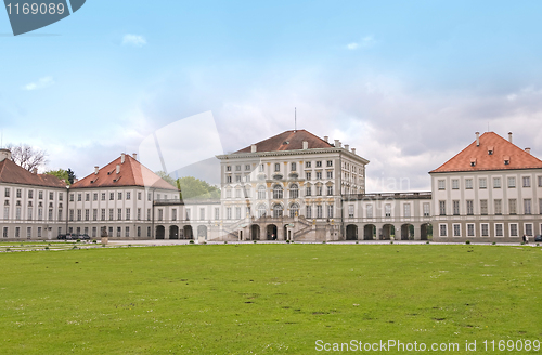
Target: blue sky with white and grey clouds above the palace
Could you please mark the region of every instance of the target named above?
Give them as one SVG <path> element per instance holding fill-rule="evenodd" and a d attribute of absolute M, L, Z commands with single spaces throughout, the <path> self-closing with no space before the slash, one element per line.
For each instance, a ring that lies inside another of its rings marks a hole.
<path fill-rule="evenodd" d="M 477 131 L 513 132 L 542 156 L 541 13 L 540 1 L 89 0 L 15 37 L 0 12 L 2 144 L 83 178 L 145 156 L 181 121 L 169 143 L 183 155 L 219 135 L 209 162 L 294 129 L 296 108 L 298 129 L 371 161 L 369 193 L 429 190 L 428 172 Z M 168 169 L 218 182 L 180 165 Z"/>

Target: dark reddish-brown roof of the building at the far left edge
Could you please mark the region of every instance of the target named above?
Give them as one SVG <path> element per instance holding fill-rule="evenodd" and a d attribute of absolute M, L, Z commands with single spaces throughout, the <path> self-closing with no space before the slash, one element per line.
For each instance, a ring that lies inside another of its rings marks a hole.
<path fill-rule="evenodd" d="M 59 178 L 48 174 L 33 174 L 10 159 L 0 161 L 0 183 L 66 187 L 66 184 Z"/>

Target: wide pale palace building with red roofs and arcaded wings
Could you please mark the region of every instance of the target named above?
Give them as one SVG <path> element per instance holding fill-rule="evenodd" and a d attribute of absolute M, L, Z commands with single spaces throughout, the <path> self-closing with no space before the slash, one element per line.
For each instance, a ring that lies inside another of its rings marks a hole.
<path fill-rule="evenodd" d="M 136 154 L 68 186 L 1 149 L 2 238 L 520 241 L 542 233 L 542 161 L 512 133 L 477 133 L 429 172 L 431 192 L 367 194 L 369 160 L 306 130 L 217 158 L 220 199 L 181 200 Z"/>

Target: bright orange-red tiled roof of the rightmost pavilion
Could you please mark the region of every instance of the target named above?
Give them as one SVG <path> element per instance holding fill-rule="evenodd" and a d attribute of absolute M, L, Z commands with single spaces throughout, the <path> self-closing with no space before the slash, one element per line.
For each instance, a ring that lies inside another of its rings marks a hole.
<path fill-rule="evenodd" d="M 488 150 L 493 150 L 492 155 Z M 508 160 L 508 165 L 505 165 Z M 472 163 L 474 162 L 474 167 Z M 486 132 L 480 136 L 480 145 L 470 143 L 455 157 L 430 172 L 515 170 L 542 168 L 542 161 L 496 133 Z"/>

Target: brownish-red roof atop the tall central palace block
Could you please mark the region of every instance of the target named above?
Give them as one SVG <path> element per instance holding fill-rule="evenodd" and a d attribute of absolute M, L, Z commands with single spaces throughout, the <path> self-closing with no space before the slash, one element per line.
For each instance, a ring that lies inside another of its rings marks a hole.
<path fill-rule="evenodd" d="M 309 142 L 309 149 L 314 148 L 331 148 L 333 144 L 315 136 L 306 130 L 286 131 L 276 134 L 270 139 L 256 143 L 256 152 L 276 152 L 276 150 L 295 150 L 302 149 L 302 142 Z M 247 146 L 237 153 L 250 153 L 251 146 Z"/>

